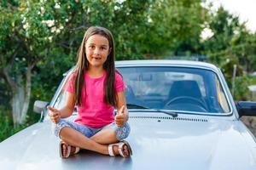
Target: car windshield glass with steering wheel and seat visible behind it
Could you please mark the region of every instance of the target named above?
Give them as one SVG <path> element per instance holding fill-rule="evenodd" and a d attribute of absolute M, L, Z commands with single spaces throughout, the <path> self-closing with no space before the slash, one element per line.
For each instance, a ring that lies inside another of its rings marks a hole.
<path fill-rule="evenodd" d="M 230 112 L 221 82 L 213 71 L 170 66 L 119 67 L 118 70 L 125 81 L 128 108 Z"/>

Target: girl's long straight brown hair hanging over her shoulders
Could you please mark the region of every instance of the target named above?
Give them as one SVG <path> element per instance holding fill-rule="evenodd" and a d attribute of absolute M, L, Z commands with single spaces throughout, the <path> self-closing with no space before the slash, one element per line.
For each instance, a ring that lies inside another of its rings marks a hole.
<path fill-rule="evenodd" d="M 109 43 L 109 49 L 111 50 L 108 54 L 108 58 L 103 64 L 103 69 L 107 72 L 107 77 L 104 82 L 104 101 L 108 105 L 117 105 L 117 93 L 115 90 L 115 67 L 114 67 L 114 42 L 113 35 L 108 29 L 100 27 L 100 26 L 91 26 L 84 33 L 83 42 L 79 48 L 77 64 L 75 66 L 75 81 L 74 81 L 74 91 L 76 98 L 76 105 L 82 105 L 82 89 L 85 88 L 85 80 L 84 80 L 84 71 L 88 71 L 89 62 L 86 58 L 85 54 L 85 43 L 88 38 L 93 35 L 101 35 L 102 37 L 106 37 Z M 86 90 L 85 90 L 86 93 Z"/>

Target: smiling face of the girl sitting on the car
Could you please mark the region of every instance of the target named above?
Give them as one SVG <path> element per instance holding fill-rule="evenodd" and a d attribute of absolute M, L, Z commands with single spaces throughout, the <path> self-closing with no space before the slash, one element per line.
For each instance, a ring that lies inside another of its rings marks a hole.
<path fill-rule="evenodd" d="M 109 42 L 106 37 L 98 34 L 90 36 L 85 43 L 85 53 L 89 66 L 103 67 L 110 50 L 111 48 L 109 48 Z"/>

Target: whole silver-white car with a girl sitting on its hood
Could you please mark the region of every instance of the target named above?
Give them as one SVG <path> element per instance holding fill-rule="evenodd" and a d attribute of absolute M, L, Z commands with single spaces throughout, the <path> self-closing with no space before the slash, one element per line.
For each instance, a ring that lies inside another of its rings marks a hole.
<path fill-rule="evenodd" d="M 1 169 L 256 169 L 256 139 L 240 121 L 256 116 L 256 103 L 235 103 L 221 71 L 185 60 L 117 61 L 125 84 L 131 133 L 130 158 L 82 150 L 59 156 L 45 109 L 40 122 L 0 143 Z M 60 108 L 69 73 L 49 105 Z M 73 119 L 77 115 L 74 111 Z"/>

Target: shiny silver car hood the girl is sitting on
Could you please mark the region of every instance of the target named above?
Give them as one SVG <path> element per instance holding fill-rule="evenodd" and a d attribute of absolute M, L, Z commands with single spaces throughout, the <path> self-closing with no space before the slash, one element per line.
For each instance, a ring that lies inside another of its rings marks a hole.
<path fill-rule="evenodd" d="M 201 116 L 130 117 L 131 158 L 82 150 L 61 159 L 49 121 L 0 144 L 2 169 L 255 169 L 256 145 L 239 121 Z"/>

